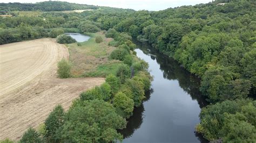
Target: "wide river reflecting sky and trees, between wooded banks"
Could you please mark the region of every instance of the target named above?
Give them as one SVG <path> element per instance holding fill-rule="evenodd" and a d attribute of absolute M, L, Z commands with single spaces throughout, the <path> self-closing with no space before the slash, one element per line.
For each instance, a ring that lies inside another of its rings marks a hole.
<path fill-rule="evenodd" d="M 194 133 L 199 113 L 207 105 L 199 92 L 200 80 L 173 59 L 147 44 L 137 44 L 137 56 L 149 63 L 151 90 L 134 109 L 123 142 L 207 142 Z"/>

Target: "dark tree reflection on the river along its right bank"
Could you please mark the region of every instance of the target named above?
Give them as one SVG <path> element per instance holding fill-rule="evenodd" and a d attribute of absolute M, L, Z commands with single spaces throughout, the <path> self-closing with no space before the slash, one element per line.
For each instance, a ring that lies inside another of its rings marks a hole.
<path fill-rule="evenodd" d="M 207 105 L 205 98 L 199 91 L 200 78 L 190 74 L 186 69 L 180 66 L 180 64 L 169 58 L 168 56 L 161 54 L 152 48 L 148 44 L 137 44 L 139 49 L 144 54 L 150 55 L 152 60 L 156 60 L 160 65 L 160 70 L 163 71 L 163 77 L 168 80 L 178 80 L 180 87 L 190 94 L 191 98 L 196 99 L 200 108 Z"/>

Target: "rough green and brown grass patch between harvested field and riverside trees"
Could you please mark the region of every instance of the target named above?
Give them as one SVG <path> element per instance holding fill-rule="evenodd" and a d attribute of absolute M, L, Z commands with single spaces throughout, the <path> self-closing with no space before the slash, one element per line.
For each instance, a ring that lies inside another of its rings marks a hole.
<path fill-rule="evenodd" d="M 96 43 L 95 37 L 100 35 L 103 42 Z M 108 56 L 116 48 L 109 46 L 111 38 L 105 38 L 102 32 L 90 33 L 91 38 L 86 42 L 68 44 L 71 75 L 73 77 L 105 77 L 110 73 L 116 73 L 120 61 L 109 60 Z"/>

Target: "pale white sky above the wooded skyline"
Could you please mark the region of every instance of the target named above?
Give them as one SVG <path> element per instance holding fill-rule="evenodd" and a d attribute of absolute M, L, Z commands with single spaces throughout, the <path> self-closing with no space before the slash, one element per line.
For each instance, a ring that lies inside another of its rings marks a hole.
<path fill-rule="evenodd" d="M 208 3 L 212 0 L 64 0 L 70 3 L 90 4 L 99 6 L 110 6 L 113 8 L 124 8 L 134 10 L 158 11 L 167 8 L 175 8 L 182 5 L 196 5 Z M 43 0 L 0 0 L 2 3 L 36 3 Z"/>

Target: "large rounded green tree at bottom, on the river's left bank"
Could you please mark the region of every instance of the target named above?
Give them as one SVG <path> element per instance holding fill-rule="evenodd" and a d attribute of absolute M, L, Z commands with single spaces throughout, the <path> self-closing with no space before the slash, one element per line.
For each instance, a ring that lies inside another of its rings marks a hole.
<path fill-rule="evenodd" d="M 64 142 L 111 142 L 122 140 L 116 129 L 126 125 L 110 103 L 93 100 L 79 102 L 66 113 L 61 135 Z"/>

